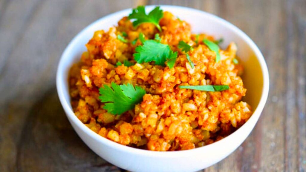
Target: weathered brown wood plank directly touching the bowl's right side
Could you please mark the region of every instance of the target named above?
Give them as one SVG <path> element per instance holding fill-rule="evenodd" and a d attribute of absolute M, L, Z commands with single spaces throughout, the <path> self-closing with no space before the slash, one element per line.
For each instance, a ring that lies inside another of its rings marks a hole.
<path fill-rule="evenodd" d="M 262 115 L 263 137 L 261 140 L 260 170 L 284 171 L 285 161 L 285 115 L 286 115 L 286 28 L 284 2 L 268 1 L 264 6 L 267 22 L 259 36 L 270 75 L 270 92 Z"/>

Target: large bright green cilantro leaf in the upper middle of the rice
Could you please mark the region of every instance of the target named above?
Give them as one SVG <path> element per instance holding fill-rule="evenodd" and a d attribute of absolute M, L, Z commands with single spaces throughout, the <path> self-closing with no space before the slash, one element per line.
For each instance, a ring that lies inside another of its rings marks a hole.
<path fill-rule="evenodd" d="M 169 58 L 174 58 L 177 53 L 170 50 L 169 45 L 158 43 L 155 40 L 146 40 L 144 45 L 136 47 L 134 59 L 137 63 L 155 62 L 155 65 L 164 66 Z M 172 52 L 172 54 L 170 54 Z"/>

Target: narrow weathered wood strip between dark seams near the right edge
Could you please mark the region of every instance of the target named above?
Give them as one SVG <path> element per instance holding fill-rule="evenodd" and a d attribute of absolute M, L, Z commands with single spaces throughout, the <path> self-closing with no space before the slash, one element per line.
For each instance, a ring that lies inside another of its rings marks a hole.
<path fill-rule="evenodd" d="M 285 116 L 285 170 L 298 170 L 298 115 L 297 115 L 297 43 L 296 21 L 294 20 L 293 1 L 287 1 L 287 54 L 286 54 L 286 116 Z"/>

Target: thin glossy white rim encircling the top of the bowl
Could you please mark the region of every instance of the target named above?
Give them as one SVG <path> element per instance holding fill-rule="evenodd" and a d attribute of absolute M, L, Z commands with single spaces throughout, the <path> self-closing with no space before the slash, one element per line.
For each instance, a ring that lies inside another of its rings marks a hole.
<path fill-rule="evenodd" d="M 241 37 L 244 40 L 244 42 L 246 42 L 250 46 L 250 48 L 254 51 L 254 54 L 259 61 L 259 64 L 260 64 L 260 67 L 261 67 L 261 70 L 262 70 L 262 73 L 263 73 L 263 90 L 262 90 L 261 98 L 260 98 L 259 103 L 257 105 L 257 108 L 253 112 L 252 116 L 248 119 L 248 121 L 246 123 L 244 123 L 244 125 L 242 125 L 235 132 L 231 133 L 229 136 L 226 136 L 225 138 L 223 138 L 223 139 L 221 139 L 217 142 L 205 145 L 203 147 L 199 147 L 199 148 L 195 148 L 195 149 L 189 149 L 189 150 L 181 150 L 181 151 L 162 151 L 162 152 L 160 152 L 160 151 L 150 151 L 150 150 L 132 148 L 132 147 L 129 147 L 129 146 L 118 144 L 118 143 L 116 143 L 112 140 L 108 140 L 108 139 L 100 136 L 99 134 L 95 133 L 94 131 L 92 131 L 88 127 L 86 127 L 75 116 L 73 110 L 69 107 L 70 101 L 65 99 L 65 96 L 64 96 L 64 89 L 62 89 L 63 85 L 64 85 L 63 82 L 62 82 L 63 81 L 63 73 L 64 73 L 64 69 L 63 69 L 64 59 L 65 59 L 65 57 L 70 56 L 69 51 L 72 49 L 74 44 L 76 44 L 76 42 L 78 42 L 78 40 L 81 38 L 81 35 L 82 35 L 83 32 L 85 32 L 86 30 L 91 28 L 93 25 L 95 25 L 97 23 L 100 23 L 100 22 L 103 22 L 103 20 L 105 20 L 106 18 L 114 17 L 116 15 L 121 15 L 121 14 L 127 13 L 128 11 L 132 11 L 132 8 L 129 8 L 129 9 L 123 9 L 123 10 L 120 10 L 118 12 L 108 14 L 104 17 L 99 18 L 98 20 L 94 21 L 93 23 L 89 24 L 88 26 L 86 26 L 70 41 L 70 43 L 68 44 L 68 46 L 65 48 L 64 52 L 62 53 L 62 56 L 61 56 L 60 61 L 58 63 L 58 69 L 57 69 L 57 73 L 56 73 L 56 87 L 57 87 L 58 97 L 60 99 L 60 102 L 62 104 L 62 107 L 65 111 L 65 114 L 66 114 L 67 118 L 70 119 L 69 121 L 75 123 L 75 125 L 77 125 L 81 130 L 83 130 L 91 138 L 93 138 L 95 140 L 98 140 L 100 143 L 106 144 L 107 146 L 113 147 L 113 148 L 121 150 L 121 151 L 129 152 L 129 153 L 132 153 L 132 154 L 147 155 L 147 156 L 154 156 L 154 157 L 188 156 L 188 155 L 192 155 L 192 154 L 196 153 L 197 151 L 205 151 L 207 149 L 222 146 L 222 145 L 224 145 L 224 143 L 226 143 L 228 140 L 230 140 L 231 137 L 233 137 L 233 135 L 235 135 L 235 133 L 236 134 L 239 133 L 240 130 L 243 130 L 244 128 L 246 128 L 247 125 L 250 125 L 251 121 L 255 120 L 254 125 L 256 125 L 256 123 L 257 123 L 257 121 L 260 117 L 260 114 L 263 110 L 263 107 L 265 106 L 265 103 L 267 101 L 268 92 L 269 92 L 269 73 L 268 73 L 267 64 L 266 64 L 266 62 L 263 58 L 262 53 L 260 52 L 259 48 L 257 47 L 257 45 L 252 41 L 251 38 L 249 38 L 237 26 L 235 26 L 235 25 L 231 24 L 230 22 L 222 19 L 221 17 L 215 16 L 214 14 L 211 14 L 211 13 L 208 13 L 208 12 L 205 12 L 205 11 L 202 11 L 202 10 L 198 10 L 198 9 L 183 7 L 183 6 L 171 6 L 171 5 L 159 5 L 159 6 L 161 7 L 161 9 L 165 8 L 166 10 L 171 10 L 171 9 L 190 10 L 193 13 L 198 13 L 200 15 L 208 17 L 211 20 L 213 20 L 214 22 L 223 24 L 226 28 L 232 29 L 233 32 L 237 33 L 237 35 L 239 37 Z M 156 5 L 145 6 L 146 10 L 153 9 L 154 7 L 156 7 Z M 68 92 L 68 90 L 67 90 L 67 92 Z M 255 116 L 254 114 L 259 114 L 259 115 Z M 253 128 L 252 128 L 252 130 L 253 130 Z M 244 142 L 244 140 L 242 141 L 242 143 L 243 142 Z"/>

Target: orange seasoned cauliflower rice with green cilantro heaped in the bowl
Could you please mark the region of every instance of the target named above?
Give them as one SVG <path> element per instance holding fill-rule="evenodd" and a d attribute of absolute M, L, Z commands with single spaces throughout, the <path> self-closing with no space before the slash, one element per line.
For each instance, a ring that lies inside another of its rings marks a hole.
<path fill-rule="evenodd" d="M 135 148 L 177 151 L 218 141 L 252 115 L 230 43 L 195 34 L 159 7 L 133 9 L 96 31 L 69 72 L 75 115 L 99 135 Z"/>

